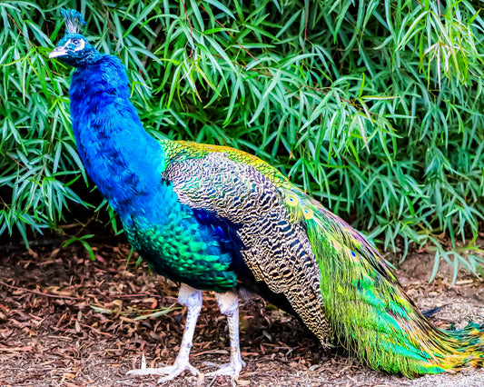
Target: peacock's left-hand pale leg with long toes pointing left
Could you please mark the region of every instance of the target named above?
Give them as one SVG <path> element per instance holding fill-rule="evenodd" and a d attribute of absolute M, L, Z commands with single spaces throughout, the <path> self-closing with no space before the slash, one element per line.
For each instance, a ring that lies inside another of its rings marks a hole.
<path fill-rule="evenodd" d="M 200 372 L 189 362 L 190 350 L 192 349 L 193 333 L 197 323 L 198 315 L 202 309 L 202 291 L 182 284 L 178 293 L 178 302 L 186 305 L 188 312 L 186 314 L 185 332 L 183 333 L 180 352 L 176 356 L 173 365 L 160 368 L 146 368 L 142 361 L 142 367 L 138 370 L 129 371 L 129 375 L 165 375 L 158 383 L 168 382 L 176 378 L 183 371 L 190 371 L 193 375 L 200 375 Z"/>

